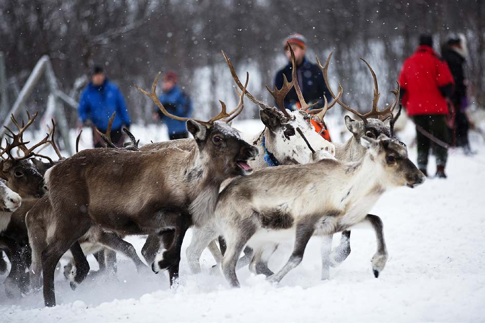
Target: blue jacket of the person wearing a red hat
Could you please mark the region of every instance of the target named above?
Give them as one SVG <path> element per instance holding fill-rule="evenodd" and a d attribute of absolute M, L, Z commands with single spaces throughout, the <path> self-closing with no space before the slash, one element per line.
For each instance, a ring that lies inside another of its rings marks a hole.
<path fill-rule="evenodd" d="M 187 95 L 184 95 L 177 85 L 167 93 L 162 93 L 159 99 L 165 109 L 171 114 L 186 118 L 192 115 L 192 100 Z M 187 132 L 185 121 L 167 117 L 158 107 L 154 111 L 158 113 L 160 120 L 167 125 L 168 134 Z"/>

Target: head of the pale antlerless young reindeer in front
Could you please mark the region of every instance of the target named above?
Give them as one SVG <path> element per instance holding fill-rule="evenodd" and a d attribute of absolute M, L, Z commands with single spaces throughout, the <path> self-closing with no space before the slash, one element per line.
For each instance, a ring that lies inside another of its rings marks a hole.
<path fill-rule="evenodd" d="M 386 187 L 408 186 L 414 188 L 422 183 L 426 177 L 408 158 L 408 151 L 397 140 L 384 134 L 377 139 L 367 136 L 361 138 L 361 144 L 378 163 L 383 176 L 381 181 Z"/>

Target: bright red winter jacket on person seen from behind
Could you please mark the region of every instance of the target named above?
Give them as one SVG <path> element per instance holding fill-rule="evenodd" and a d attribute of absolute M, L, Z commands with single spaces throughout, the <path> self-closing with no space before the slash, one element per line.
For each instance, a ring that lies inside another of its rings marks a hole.
<path fill-rule="evenodd" d="M 454 84 L 448 64 L 429 46 L 421 45 L 404 61 L 399 84 L 408 115 L 447 114 L 448 105 L 440 88 Z"/>

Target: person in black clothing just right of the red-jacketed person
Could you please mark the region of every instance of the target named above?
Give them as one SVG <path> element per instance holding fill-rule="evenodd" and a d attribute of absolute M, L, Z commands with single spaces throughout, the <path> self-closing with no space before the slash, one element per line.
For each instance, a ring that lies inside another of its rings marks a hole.
<path fill-rule="evenodd" d="M 455 138 L 456 146 L 463 147 L 465 153 L 471 153 L 468 140 L 470 123 L 465 110 L 468 106 L 467 85 L 465 85 L 465 74 L 463 65 L 467 59 L 467 44 L 463 34 L 453 35 L 444 45 L 441 55 L 450 67 L 451 74 L 455 80 L 455 88 L 451 95 L 451 102 L 455 108 Z"/>

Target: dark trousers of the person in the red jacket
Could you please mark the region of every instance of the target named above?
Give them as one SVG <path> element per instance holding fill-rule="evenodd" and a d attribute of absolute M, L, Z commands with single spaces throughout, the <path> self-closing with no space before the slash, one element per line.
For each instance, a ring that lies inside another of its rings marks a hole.
<path fill-rule="evenodd" d="M 446 115 L 444 114 L 423 114 L 413 116 L 414 123 L 442 142 L 448 143 L 448 127 Z M 418 142 L 418 168 L 426 169 L 428 166 L 428 155 L 430 148 L 436 157 L 436 166 L 445 166 L 448 159 L 448 149 L 432 142 L 416 128 L 416 139 Z"/>

